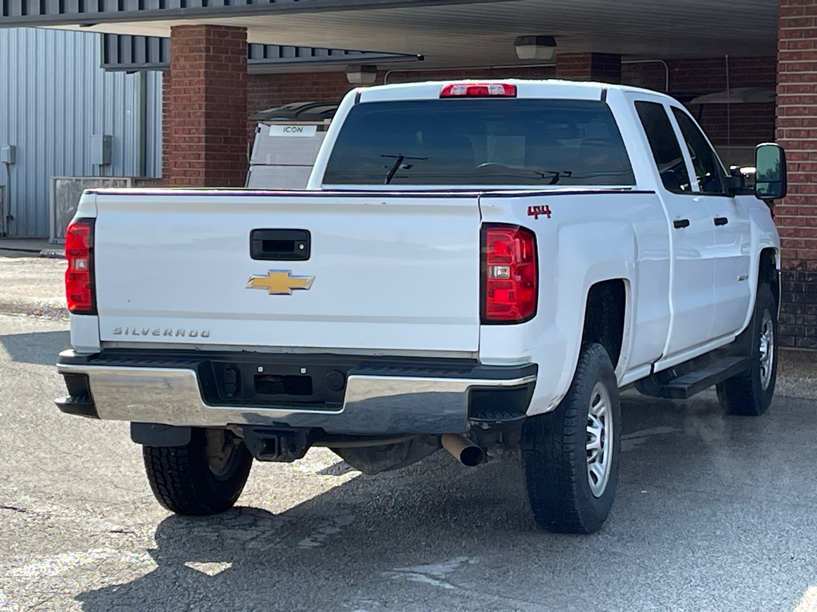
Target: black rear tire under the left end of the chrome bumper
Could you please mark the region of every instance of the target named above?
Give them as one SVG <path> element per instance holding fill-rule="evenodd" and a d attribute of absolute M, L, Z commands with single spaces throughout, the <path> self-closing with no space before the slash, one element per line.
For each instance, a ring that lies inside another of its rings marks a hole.
<path fill-rule="evenodd" d="M 243 441 L 224 429 L 194 428 L 187 446 L 143 446 L 142 457 L 158 503 L 191 517 L 232 508 L 252 468 Z"/>

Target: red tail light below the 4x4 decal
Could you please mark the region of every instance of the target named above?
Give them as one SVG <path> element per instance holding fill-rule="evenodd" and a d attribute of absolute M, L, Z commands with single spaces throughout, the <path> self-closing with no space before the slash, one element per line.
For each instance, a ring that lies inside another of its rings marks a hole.
<path fill-rule="evenodd" d="M 482 322 L 524 323 L 538 302 L 536 236 L 518 225 L 482 228 Z"/>

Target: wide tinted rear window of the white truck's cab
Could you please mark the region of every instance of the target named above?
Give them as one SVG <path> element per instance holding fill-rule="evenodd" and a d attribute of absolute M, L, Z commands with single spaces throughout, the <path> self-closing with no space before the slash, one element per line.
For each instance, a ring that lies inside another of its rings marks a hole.
<path fill-rule="evenodd" d="M 415 100 L 357 104 L 324 184 L 632 185 L 604 102 Z"/>

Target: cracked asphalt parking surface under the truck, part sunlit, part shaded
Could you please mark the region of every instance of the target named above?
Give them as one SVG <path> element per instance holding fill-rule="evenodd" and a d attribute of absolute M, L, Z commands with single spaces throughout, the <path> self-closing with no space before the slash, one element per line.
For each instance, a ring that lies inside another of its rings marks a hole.
<path fill-rule="evenodd" d="M 127 424 L 62 415 L 64 322 L 0 315 L 0 610 L 817 610 L 817 401 L 623 397 L 598 534 L 534 524 L 518 460 L 377 476 L 256 463 L 238 507 L 159 507 Z"/>

